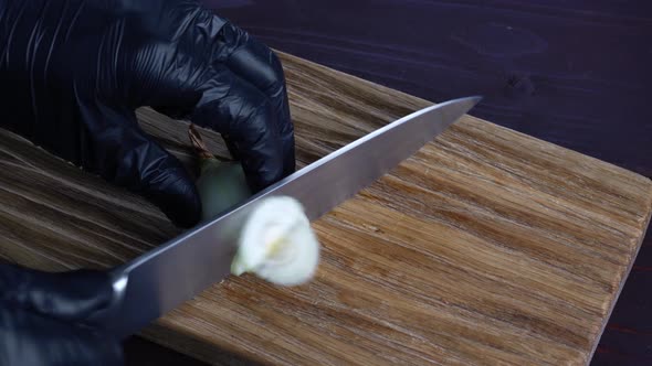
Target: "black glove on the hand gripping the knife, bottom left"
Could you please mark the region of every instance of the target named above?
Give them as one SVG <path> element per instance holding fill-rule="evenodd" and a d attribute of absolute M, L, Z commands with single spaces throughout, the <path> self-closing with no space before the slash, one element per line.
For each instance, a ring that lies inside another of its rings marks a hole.
<path fill-rule="evenodd" d="M 122 365 L 118 340 L 81 323 L 108 305 L 106 273 L 0 265 L 0 365 Z"/>

